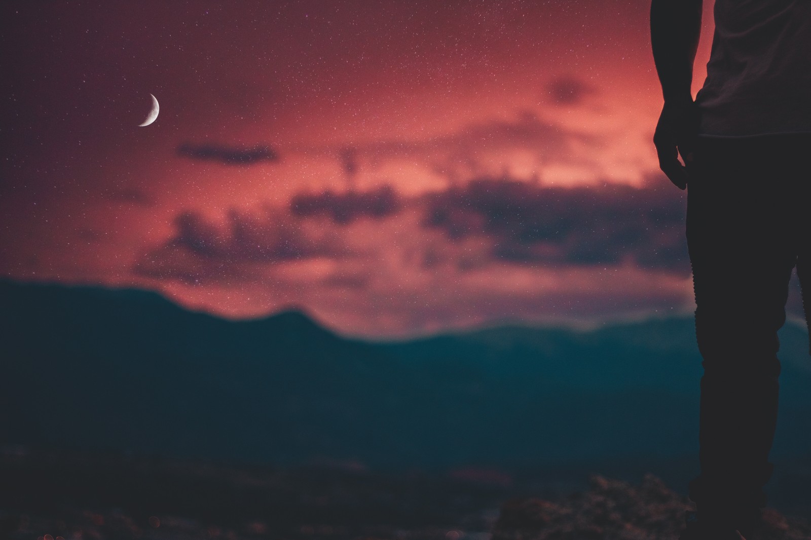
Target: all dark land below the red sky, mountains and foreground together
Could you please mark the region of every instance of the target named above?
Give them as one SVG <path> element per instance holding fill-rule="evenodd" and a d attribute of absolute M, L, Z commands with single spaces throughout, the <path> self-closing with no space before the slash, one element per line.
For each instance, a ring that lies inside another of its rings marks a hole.
<path fill-rule="evenodd" d="M 701 377 L 689 317 L 364 341 L 297 309 L 230 321 L 137 289 L 0 281 L 0 298 L 6 538 L 683 525 Z M 780 341 L 769 538 L 811 538 L 808 333 L 787 324 Z"/>

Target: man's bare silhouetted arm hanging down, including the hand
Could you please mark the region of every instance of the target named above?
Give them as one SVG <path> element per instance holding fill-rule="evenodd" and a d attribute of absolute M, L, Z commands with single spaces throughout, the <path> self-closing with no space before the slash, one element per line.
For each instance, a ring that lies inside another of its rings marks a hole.
<path fill-rule="evenodd" d="M 654 144 L 659 167 L 680 189 L 687 186 L 687 174 L 678 155 L 685 160 L 692 157 L 698 130 L 698 113 L 690 87 L 702 31 L 702 4 L 702 0 L 650 2 L 650 43 L 664 96 Z"/>

